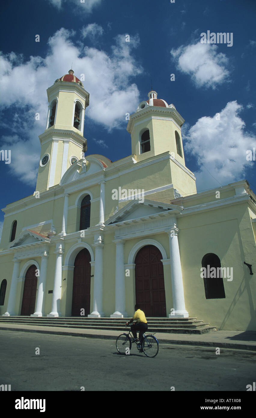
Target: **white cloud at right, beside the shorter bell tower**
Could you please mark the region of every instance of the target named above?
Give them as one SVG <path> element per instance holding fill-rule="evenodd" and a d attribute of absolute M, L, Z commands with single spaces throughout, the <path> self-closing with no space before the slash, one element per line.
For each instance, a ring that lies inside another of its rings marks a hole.
<path fill-rule="evenodd" d="M 256 138 L 246 132 L 245 122 L 238 116 L 241 110 L 236 101 L 228 102 L 219 116 L 201 117 L 185 134 L 182 132 L 186 152 L 196 154 L 200 167 L 195 172 L 198 190 L 217 187 L 218 181 L 225 185 L 242 180 L 246 169 L 255 164 L 246 160 L 246 150 L 256 146 Z"/>

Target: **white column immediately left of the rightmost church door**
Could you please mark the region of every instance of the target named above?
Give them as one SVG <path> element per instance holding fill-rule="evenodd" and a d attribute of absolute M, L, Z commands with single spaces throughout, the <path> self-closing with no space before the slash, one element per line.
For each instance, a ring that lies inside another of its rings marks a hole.
<path fill-rule="evenodd" d="M 124 240 L 116 243 L 116 310 L 110 318 L 124 318 L 128 316 L 125 310 L 125 280 L 124 280 Z"/>

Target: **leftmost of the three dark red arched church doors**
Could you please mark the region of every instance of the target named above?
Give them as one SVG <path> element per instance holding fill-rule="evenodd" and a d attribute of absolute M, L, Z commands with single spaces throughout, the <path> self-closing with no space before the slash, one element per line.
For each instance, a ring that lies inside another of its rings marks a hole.
<path fill-rule="evenodd" d="M 20 315 L 29 316 L 35 312 L 35 297 L 38 278 L 35 275 L 36 266 L 31 265 L 25 275 L 23 299 Z"/>

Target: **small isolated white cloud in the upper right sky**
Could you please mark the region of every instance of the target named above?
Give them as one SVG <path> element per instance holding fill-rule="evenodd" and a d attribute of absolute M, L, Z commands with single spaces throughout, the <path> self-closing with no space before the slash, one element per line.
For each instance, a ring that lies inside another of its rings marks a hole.
<path fill-rule="evenodd" d="M 189 74 L 196 87 L 211 87 L 228 80 L 228 58 L 225 54 L 217 53 L 217 45 L 196 43 L 195 45 L 180 46 L 171 50 L 177 68 Z"/>

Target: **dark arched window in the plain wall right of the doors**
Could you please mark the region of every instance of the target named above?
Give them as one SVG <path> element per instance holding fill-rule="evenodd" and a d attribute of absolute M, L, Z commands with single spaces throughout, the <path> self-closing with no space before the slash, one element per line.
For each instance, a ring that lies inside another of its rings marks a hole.
<path fill-rule="evenodd" d="M 205 298 L 206 299 L 222 299 L 226 298 L 222 270 L 221 260 L 218 255 L 208 253 L 203 256 L 202 267 L 204 267 L 204 286 L 205 286 Z"/>

